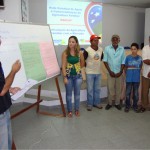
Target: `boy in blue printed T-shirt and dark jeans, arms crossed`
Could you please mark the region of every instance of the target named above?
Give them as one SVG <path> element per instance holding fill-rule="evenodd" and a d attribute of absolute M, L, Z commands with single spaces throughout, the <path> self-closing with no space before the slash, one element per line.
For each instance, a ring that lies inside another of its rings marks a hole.
<path fill-rule="evenodd" d="M 133 88 L 133 110 L 137 112 L 137 102 L 139 99 L 140 73 L 142 68 L 142 57 L 137 54 L 139 46 L 137 43 L 131 44 L 131 55 L 128 55 L 125 60 L 126 73 L 126 103 L 125 112 L 129 112 L 131 107 L 130 96 Z"/>

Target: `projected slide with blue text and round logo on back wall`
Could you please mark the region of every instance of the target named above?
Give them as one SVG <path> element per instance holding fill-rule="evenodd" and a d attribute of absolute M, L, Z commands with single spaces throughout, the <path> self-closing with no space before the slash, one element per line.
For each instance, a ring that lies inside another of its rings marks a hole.
<path fill-rule="evenodd" d="M 89 45 L 90 35 L 102 36 L 101 3 L 47 0 L 47 23 L 55 45 L 67 45 L 71 35 Z"/>

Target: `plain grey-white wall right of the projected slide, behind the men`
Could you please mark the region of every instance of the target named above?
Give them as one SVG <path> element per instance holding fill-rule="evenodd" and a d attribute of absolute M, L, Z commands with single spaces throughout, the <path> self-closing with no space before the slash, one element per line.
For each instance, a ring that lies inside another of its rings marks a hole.
<path fill-rule="evenodd" d="M 119 34 L 121 45 L 144 42 L 145 9 L 104 5 L 103 7 L 103 46 L 110 43 L 113 34 Z"/>

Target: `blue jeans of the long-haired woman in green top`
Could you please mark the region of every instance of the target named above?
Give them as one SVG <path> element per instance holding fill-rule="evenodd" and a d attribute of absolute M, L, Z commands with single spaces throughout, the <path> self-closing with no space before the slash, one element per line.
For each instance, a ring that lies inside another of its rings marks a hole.
<path fill-rule="evenodd" d="M 82 77 L 81 75 L 72 75 L 67 77 L 67 79 L 68 83 L 65 84 L 67 110 L 72 112 L 72 90 L 74 89 L 74 109 L 79 111 Z"/>

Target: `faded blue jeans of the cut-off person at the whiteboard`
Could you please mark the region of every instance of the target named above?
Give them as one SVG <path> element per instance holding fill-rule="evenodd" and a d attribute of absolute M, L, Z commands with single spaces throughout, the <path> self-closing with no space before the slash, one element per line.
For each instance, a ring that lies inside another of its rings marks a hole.
<path fill-rule="evenodd" d="M 12 130 L 11 130 L 11 120 L 10 112 L 6 110 L 4 113 L 0 114 L 0 150 L 12 148 Z"/>

